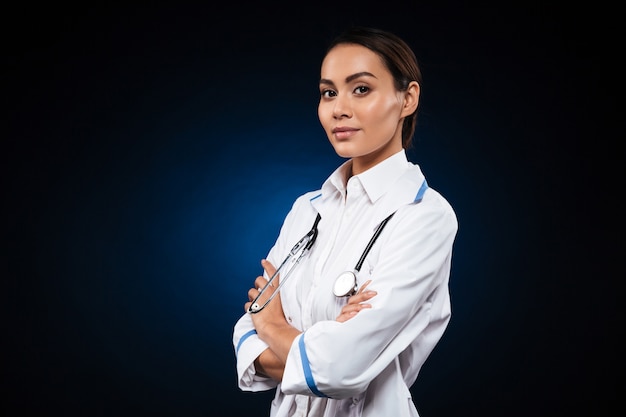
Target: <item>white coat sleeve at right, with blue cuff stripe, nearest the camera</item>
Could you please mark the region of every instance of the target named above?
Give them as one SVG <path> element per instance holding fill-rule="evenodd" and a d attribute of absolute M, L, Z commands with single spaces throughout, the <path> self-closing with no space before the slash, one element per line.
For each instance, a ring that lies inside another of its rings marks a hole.
<path fill-rule="evenodd" d="M 405 366 L 416 376 L 450 318 L 447 287 L 457 228 L 452 208 L 434 190 L 422 203 L 398 210 L 376 243 L 372 308 L 344 323 L 315 323 L 298 336 L 281 390 L 355 396 L 405 351 L 414 362 Z"/>

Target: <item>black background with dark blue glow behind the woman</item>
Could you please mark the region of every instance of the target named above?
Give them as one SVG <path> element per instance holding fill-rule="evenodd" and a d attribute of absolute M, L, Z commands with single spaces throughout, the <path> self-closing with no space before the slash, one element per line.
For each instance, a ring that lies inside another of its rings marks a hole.
<path fill-rule="evenodd" d="M 618 406 L 612 12 L 255 4 L 5 12 L 3 415 L 267 415 L 232 327 L 291 203 L 342 162 L 317 80 L 350 24 L 415 49 L 410 157 L 459 218 L 420 413 Z"/>

